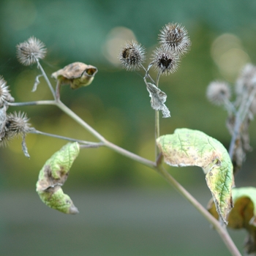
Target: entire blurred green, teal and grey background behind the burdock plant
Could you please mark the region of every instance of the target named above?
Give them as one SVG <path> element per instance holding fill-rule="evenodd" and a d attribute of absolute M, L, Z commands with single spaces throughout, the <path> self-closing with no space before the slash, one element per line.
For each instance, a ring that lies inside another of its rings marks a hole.
<path fill-rule="evenodd" d="M 160 79 L 172 115 L 161 120 L 161 134 L 200 129 L 228 147 L 226 113 L 207 101 L 206 86 L 216 79 L 233 86 L 244 64 L 255 63 L 255 11 L 256 1 L 249 0 L 2 0 L 0 75 L 16 102 L 52 99 L 42 78 L 31 93 L 39 71 L 15 57 L 15 45 L 31 36 L 48 48 L 41 63 L 49 76 L 75 61 L 96 66 L 91 86 L 78 91 L 64 86 L 62 101 L 111 142 L 153 160 L 154 111 L 143 72 L 121 69 L 117 54 L 126 39 L 137 39 L 149 63 L 159 29 L 181 23 L 192 48 L 175 74 Z M 53 106 L 9 108 L 19 110 L 43 132 L 96 141 Z M 253 122 L 255 148 L 254 131 Z M 31 159 L 23 156 L 20 143 L 0 148 L 0 255 L 228 255 L 217 233 L 166 181 L 108 148 L 84 149 L 72 166 L 64 192 L 80 214 L 48 209 L 35 192 L 37 176 L 66 142 L 28 135 Z M 248 154 L 237 187 L 255 187 L 254 156 L 255 151 Z M 211 195 L 200 168 L 167 168 L 206 206 Z M 231 234 L 241 249 L 244 231 Z"/>

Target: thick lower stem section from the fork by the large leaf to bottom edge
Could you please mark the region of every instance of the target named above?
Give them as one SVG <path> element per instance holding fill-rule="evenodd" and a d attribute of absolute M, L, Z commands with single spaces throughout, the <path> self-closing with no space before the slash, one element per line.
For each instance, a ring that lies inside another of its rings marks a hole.
<path fill-rule="evenodd" d="M 195 199 L 195 197 L 192 197 L 192 195 L 190 195 L 189 192 L 187 192 L 187 190 L 184 189 L 184 187 L 182 187 L 181 184 L 179 184 L 178 181 L 176 181 L 176 179 L 173 178 L 173 176 L 170 175 L 170 173 L 167 173 L 167 171 L 165 170 L 164 167 L 158 166 L 157 167 L 157 172 L 159 174 L 161 174 L 162 177 L 164 177 L 168 181 L 168 183 L 170 183 L 176 190 L 178 190 L 178 192 L 181 195 L 183 195 L 189 201 L 189 203 L 192 203 L 192 205 L 197 209 L 197 211 L 199 211 L 200 214 L 202 214 L 203 217 L 205 217 L 208 220 L 208 222 L 210 222 L 214 226 L 214 228 L 219 233 L 219 236 L 222 238 L 222 240 L 224 241 L 225 245 L 227 246 L 227 249 L 229 249 L 231 255 L 233 255 L 233 256 L 241 256 L 241 253 L 238 251 L 236 245 L 234 244 L 233 240 L 230 238 L 230 236 L 227 233 L 227 230 L 225 229 L 225 227 L 222 227 L 220 222 L 218 222 L 218 220 L 215 219 L 206 210 L 206 208 L 204 208 Z"/>

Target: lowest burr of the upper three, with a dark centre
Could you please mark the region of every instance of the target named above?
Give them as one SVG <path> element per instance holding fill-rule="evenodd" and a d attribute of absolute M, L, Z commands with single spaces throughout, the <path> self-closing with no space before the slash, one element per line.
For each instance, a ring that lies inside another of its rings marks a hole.
<path fill-rule="evenodd" d="M 172 50 L 166 50 L 165 48 L 157 48 L 152 54 L 153 65 L 155 69 L 161 74 L 168 75 L 176 72 L 178 68 L 179 58 L 178 55 Z"/>

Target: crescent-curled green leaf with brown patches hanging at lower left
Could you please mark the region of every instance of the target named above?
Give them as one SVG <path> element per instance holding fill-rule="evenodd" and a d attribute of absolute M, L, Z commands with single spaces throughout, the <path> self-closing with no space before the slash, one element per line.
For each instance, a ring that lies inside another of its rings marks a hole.
<path fill-rule="evenodd" d="M 39 172 L 37 193 L 42 202 L 50 208 L 64 214 L 77 214 L 78 208 L 70 197 L 64 194 L 61 186 L 67 180 L 69 169 L 78 157 L 80 147 L 78 143 L 68 143 L 53 154 Z"/>

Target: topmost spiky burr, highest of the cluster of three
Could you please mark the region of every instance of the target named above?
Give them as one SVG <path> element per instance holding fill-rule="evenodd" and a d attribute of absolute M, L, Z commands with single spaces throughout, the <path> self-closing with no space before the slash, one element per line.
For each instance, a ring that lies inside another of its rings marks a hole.
<path fill-rule="evenodd" d="M 191 41 L 184 26 L 178 23 L 168 23 L 158 36 L 159 42 L 166 50 L 173 50 L 178 55 L 186 54 L 191 46 Z"/>

